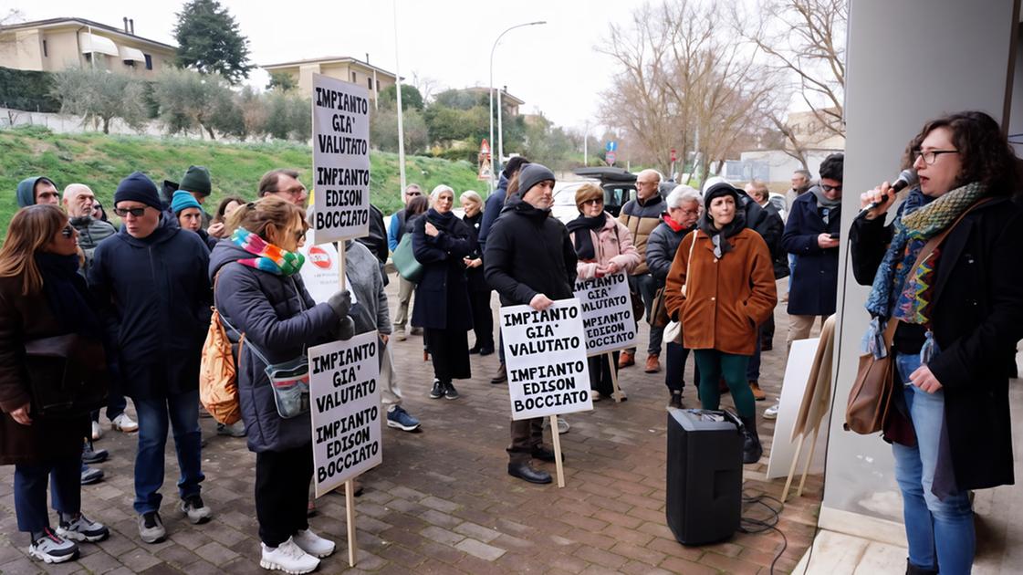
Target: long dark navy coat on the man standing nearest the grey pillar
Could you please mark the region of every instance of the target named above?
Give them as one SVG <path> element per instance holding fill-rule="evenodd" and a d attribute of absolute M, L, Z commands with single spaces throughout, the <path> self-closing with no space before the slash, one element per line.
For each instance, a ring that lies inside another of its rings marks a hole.
<path fill-rule="evenodd" d="M 817 236 L 842 228 L 841 207 L 831 210 L 828 223 L 817 210 L 816 197 L 804 193 L 792 203 L 785 224 L 782 248 L 795 254 L 796 271 L 789 289 L 789 315 L 831 315 L 838 298 L 838 248 L 821 250 Z"/>

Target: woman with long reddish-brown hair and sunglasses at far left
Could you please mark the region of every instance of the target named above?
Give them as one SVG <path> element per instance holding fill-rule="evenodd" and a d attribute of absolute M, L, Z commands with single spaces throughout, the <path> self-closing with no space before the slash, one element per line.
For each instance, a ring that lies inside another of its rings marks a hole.
<path fill-rule="evenodd" d="M 95 350 L 91 355 L 99 355 L 99 364 L 69 359 L 66 369 L 108 380 L 103 324 L 79 265 L 78 231 L 60 209 L 38 205 L 14 214 L 0 249 L 0 465 L 14 466 L 17 527 L 31 534 L 29 555 L 46 563 L 78 557 L 73 540 L 99 541 L 109 534 L 81 513 L 89 411 L 65 418 L 38 414 L 32 388 L 58 388 L 61 375 L 40 382 L 37 371 L 30 377 L 27 361 L 27 344 L 74 334 Z M 46 512 L 47 477 L 59 516 L 56 530 Z"/>

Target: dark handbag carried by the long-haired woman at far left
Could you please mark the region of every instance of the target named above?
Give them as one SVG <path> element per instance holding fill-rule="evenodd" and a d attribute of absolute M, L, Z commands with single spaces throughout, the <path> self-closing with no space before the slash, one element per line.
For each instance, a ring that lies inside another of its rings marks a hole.
<path fill-rule="evenodd" d="M 66 334 L 25 344 L 32 413 L 80 417 L 106 405 L 109 371 L 101 343 Z"/>

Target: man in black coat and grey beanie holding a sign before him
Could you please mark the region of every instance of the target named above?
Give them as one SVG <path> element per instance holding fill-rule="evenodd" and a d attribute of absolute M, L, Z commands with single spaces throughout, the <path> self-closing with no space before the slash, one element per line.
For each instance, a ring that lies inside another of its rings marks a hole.
<path fill-rule="evenodd" d="M 554 174 L 539 164 L 519 172 L 519 193 L 507 200 L 487 240 L 485 274 L 502 306 L 528 304 L 546 309 L 573 297 L 576 253 L 565 224 L 550 217 Z M 558 433 L 551 430 L 551 433 Z M 550 474 L 531 459 L 553 461 L 543 446 L 543 418 L 511 422 L 508 475 L 531 483 L 550 483 Z"/>

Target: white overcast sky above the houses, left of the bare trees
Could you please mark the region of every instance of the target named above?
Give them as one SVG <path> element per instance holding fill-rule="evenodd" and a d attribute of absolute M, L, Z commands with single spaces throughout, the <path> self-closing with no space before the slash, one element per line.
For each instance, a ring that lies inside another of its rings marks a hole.
<path fill-rule="evenodd" d="M 4 12 L 27 19 L 78 16 L 122 27 L 135 19 L 138 36 L 174 43 L 174 0 L 0 0 Z M 439 87 L 487 86 L 490 49 L 503 30 L 517 24 L 546 25 L 509 32 L 494 53 L 494 85 L 526 101 L 522 112 L 542 110 L 555 124 L 582 129 L 596 118 L 601 92 L 611 87 L 613 62 L 594 47 L 612 21 L 628 21 L 641 0 L 398 0 L 401 75 L 435 80 Z M 390 0 L 323 2 L 221 0 L 249 38 L 252 60 L 276 63 L 319 56 L 353 56 L 394 72 L 395 33 Z M 266 84 L 262 71 L 251 77 Z M 598 135 L 598 134 L 597 134 Z"/>

